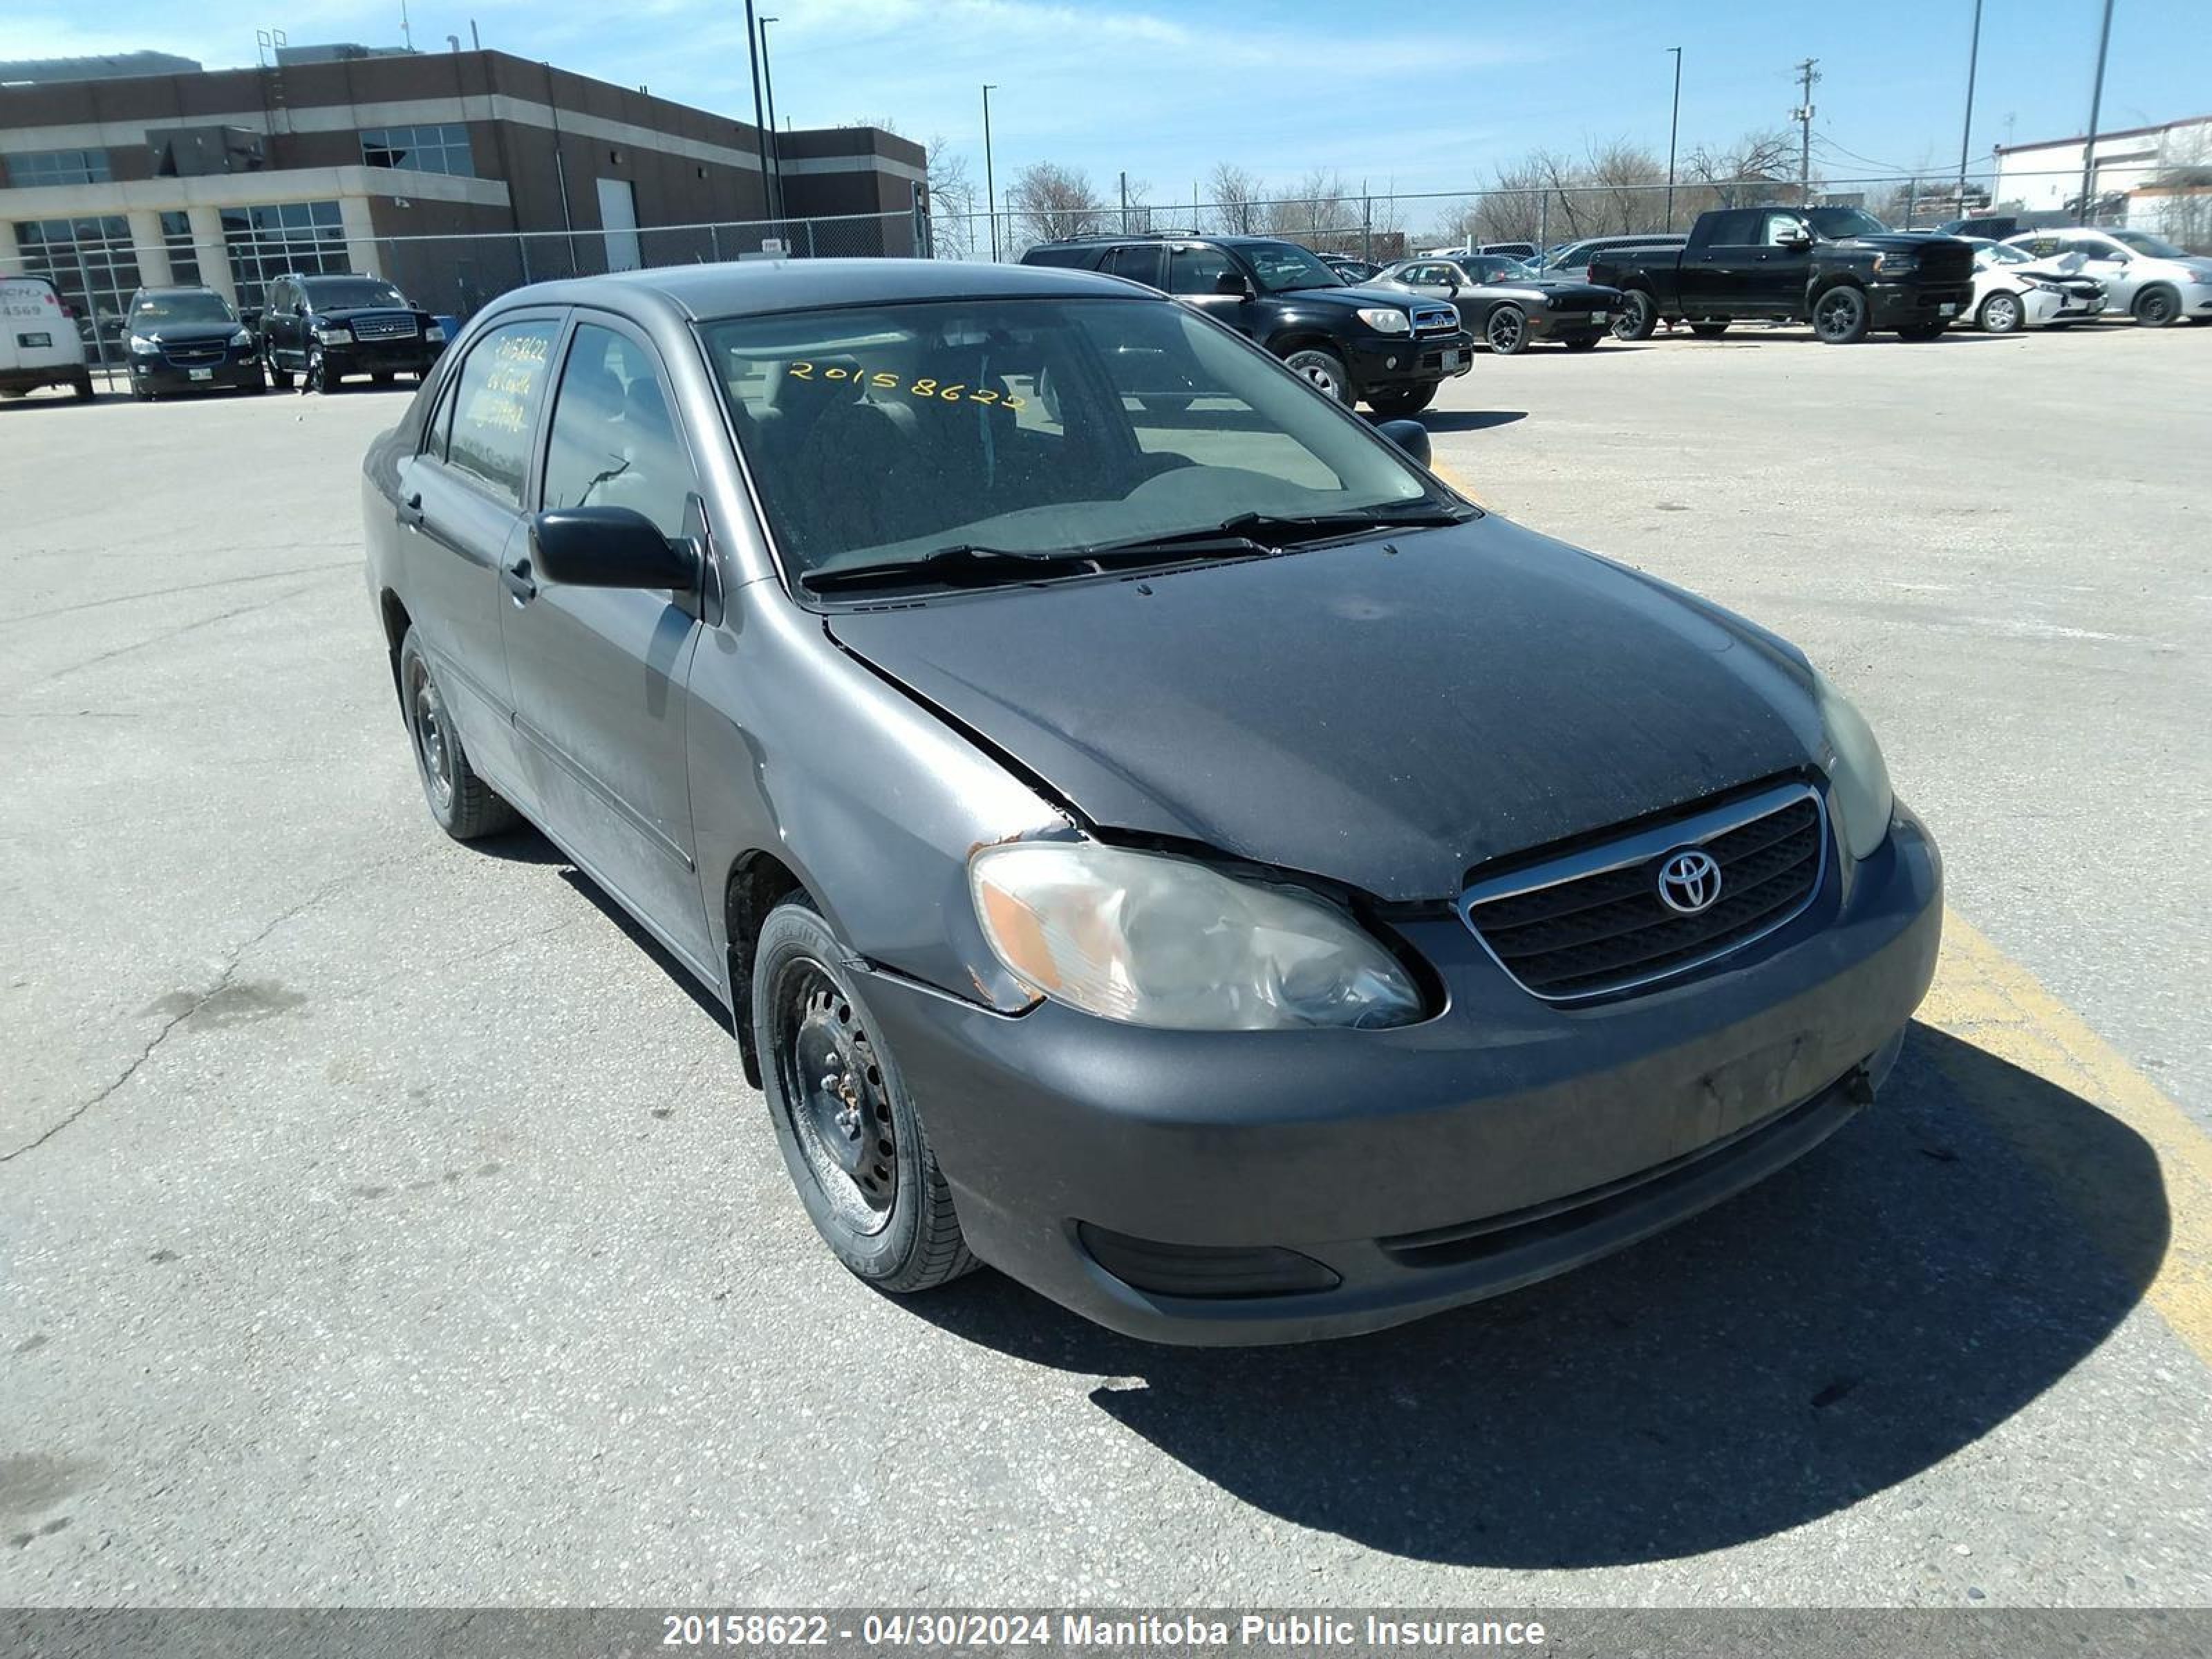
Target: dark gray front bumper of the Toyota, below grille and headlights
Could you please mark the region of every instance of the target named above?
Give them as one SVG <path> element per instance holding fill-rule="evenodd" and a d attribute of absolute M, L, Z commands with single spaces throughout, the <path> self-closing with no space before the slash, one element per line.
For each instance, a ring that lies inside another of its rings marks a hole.
<path fill-rule="evenodd" d="M 1400 929 L 1447 1009 L 1396 1031 L 1006 1018 L 883 973 L 865 1000 L 978 1256 L 1133 1336 L 1349 1336 L 1619 1250 L 1847 1121 L 1933 978 L 1942 865 L 1900 807 L 1825 880 L 1741 964 L 1595 1006 L 1528 998 L 1455 916 Z M 1086 1230 L 1296 1252 L 1334 1285 L 1141 1290 Z"/>

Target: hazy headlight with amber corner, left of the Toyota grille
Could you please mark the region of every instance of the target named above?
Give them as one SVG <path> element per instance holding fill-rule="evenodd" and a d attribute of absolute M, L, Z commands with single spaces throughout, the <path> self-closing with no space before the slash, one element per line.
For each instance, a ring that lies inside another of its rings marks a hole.
<path fill-rule="evenodd" d="M 1420 1018 L 1413 978 L 1349 916 L 1190 858 L 1020 841 L 978 852 L 969 889 L 1018 980 L 1104 1020 L 1283 1031 Z"/>

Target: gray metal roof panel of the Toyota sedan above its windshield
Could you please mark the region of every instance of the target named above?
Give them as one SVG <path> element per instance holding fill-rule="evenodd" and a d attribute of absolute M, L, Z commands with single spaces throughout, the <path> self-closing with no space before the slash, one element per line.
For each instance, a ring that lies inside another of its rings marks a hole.
<path fill-rule="evenodd" d="M 759 259 L 723 265 L 659 265 L 515 288 L 515 305 L 606 305 L 624 296 L 686 321 L 814 312 L 836 305 L 898 305 L 931 299 L 1053 299 L 1060 294 L 1164 296 L 1119 276 L 1064 265 L 987 265 L 956 259 Z"/>

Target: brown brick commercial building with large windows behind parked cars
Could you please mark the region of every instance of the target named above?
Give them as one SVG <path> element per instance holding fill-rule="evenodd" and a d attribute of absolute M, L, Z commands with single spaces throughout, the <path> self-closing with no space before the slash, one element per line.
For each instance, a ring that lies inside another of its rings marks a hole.
<path fill-rule="evenodd" d="M 878 128 L 763 146 L 500 51 L 301 58 L 0 86 L 0 272 L 111 336 L 139 283 L 257 305 L 281 270 L 358 270 L 467 314 L 546 276 L 920 243 L 925 155 Z"/>

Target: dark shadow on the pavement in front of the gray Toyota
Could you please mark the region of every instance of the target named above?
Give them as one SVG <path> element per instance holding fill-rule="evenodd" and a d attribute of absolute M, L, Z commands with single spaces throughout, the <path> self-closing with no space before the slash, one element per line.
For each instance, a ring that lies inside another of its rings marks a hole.
<path fill-rule="evenodd" d="M 1913 1026 L 1880 1102 L 1761 1188 L 1396 1332 L 1155 1347 L 989 1272 L 902 1307 L 1110 1378 L 1099 1411 L 1298 1526 L 1613 1566 L 1770 1537 L 1973 1444 L 2112 1332 L 2166 1237 L 2132 1130 Z"/>

